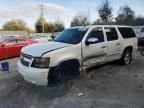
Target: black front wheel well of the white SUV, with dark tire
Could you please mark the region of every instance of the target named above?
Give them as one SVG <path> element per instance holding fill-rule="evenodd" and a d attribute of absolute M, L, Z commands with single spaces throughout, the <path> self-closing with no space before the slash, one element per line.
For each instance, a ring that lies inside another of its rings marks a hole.
<path fill-rule="evenodd" d="M 50 86 L 67 84 L 70 79 L 79 75 L 79 65 L 75 62 L 64 62 L 57 67 L 54 67 L 48 77 Z"/>

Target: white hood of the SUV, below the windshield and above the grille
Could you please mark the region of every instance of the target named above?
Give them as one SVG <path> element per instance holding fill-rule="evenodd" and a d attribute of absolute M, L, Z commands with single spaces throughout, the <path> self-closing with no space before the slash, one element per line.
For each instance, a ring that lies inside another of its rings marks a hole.
<path fill-rule="evenodd" d="M 71 45 L 72 44 L 61 42 L 37 43 L 22 48 L 21 52 L 24 54 L 31 55 L 33 57 L 41 57 L 46 52 L 54 51 L 56 49 L 68 47 Z"/>

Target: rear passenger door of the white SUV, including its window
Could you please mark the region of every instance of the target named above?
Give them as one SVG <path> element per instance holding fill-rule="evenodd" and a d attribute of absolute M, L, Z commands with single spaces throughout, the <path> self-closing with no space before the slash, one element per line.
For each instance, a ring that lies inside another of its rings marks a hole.
<path fill-rule="evenodd" d="M 121 57 L 121 42 L 115 27 L 105 27 L 105 35 L 107 38 L 107 60 L 111 61 Z"/>

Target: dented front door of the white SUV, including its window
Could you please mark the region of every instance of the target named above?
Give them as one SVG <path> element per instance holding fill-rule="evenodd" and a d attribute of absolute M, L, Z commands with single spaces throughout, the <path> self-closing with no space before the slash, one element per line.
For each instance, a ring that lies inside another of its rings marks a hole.
<path fill-rule="evenodd" d="M 97 42 L 90 42 L 92 39 Z M 83 45 L 83 66 L 84 68 L 94 66 L 104 62 L 107 55 L 106 42 L 101 27 L 93 29 L 86 38 L 86 44 Z"/>

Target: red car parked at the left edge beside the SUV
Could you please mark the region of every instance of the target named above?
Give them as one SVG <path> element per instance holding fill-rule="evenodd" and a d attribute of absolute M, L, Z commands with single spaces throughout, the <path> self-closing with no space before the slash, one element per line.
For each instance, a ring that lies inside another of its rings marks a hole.
<path fill-rule="evenodd" d="M 20 37 L 0 38 L 0 60 L 19 56 L 24 46 L 33 43 L 37 41 Z"/>

